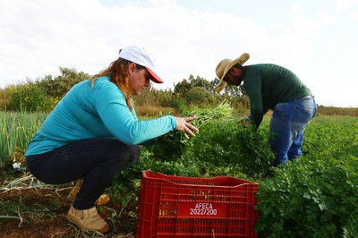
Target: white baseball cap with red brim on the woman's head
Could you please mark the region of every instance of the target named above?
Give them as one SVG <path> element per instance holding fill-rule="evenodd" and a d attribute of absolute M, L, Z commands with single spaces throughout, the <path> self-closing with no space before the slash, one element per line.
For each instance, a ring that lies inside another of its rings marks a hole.
<path fill-rule="evenodd" d="M 143 47 L 124 47 L 119 51 L 119 57 L 144 66 L 151 76 L 151 81 L 163 83 L 157 73 L 155 73 L 154 57 Z"/>

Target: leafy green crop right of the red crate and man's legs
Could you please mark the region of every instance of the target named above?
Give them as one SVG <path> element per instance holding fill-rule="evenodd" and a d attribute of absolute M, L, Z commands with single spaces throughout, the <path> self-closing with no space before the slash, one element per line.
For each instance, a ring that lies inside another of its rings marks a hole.
<path fill-rule="evenodd" d="M 260 182 L 263 237 L 356 237 L 358 127 L 354 117 L 318 117 L 306 128 L 304 156 Z"/>

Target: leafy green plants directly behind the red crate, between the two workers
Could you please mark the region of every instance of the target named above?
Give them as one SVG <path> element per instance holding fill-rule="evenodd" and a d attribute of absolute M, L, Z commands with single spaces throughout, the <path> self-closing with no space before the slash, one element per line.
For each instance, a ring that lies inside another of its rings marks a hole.
<path fill-rule="evenodd" d="M 191 140 L 184 140 L 179 132 L 167 134 L 149 146 L 149 151 L 154 159 L 166 164 L 161 169 L 165 168 L 167 173 L 173 173 L 168 169 L 171 166 L 183 165 L 180 169 L 185 170 L 193 165 L 197 171 L 193 174 L 229 174 L 256 179 L 268 174 L 274 158 L 263 133 L 217 120 L 201 126 L 200 133 Z M 176 169 L 175 174 L 178 174 Z"/>

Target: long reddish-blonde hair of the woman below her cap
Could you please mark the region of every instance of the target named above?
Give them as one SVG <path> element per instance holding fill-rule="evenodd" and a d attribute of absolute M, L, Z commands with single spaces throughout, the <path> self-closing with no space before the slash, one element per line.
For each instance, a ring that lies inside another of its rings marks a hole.
<path fill-rule="evenodd" d="M 125 97 L 125 103 L 132 111 L 132 93 L 129 90 L 127 68 L 131 62 L 118 58 L 116 61 L 109 64 L 107 69 L 93 75 L 90 78 L 91 87 L 93 88 L 94 82 L 102 76 L 109 76 L 110 80 L 122 90 Z"/>

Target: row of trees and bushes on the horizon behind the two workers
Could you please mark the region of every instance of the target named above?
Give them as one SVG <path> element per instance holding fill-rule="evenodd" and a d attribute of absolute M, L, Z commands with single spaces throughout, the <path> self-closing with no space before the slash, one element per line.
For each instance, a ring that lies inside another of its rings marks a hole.
<path fill-rule="evenodd" d="M 72 86 L 90 79 L 90 74 L 77 72 L 73 68 L 59 68 L 58 76 L 46 75 L 36 81 L 22 82 L 0 89 L 0 108 L 11 111 L 51 111 Z M 228 101 L 234 109 L 249 107 L 249 100 L 242 87 L 226 87 L 224 92 L 216 93 L 219 80 L 208 81 L 191 74 L 174 84 L 173 89 L 149 87 L 141 96 L 133 97 L 136 106 L 172 107 L 178 111 L 188 106 L 213 107 L 222 100 Z"/>

